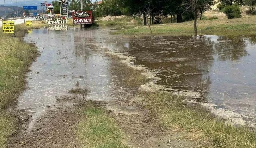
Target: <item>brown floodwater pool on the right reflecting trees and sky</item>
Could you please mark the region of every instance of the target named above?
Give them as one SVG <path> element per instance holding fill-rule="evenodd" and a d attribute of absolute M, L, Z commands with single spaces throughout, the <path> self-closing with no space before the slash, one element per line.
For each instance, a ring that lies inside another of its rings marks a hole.
<path fill-rule="evenodd" d="M 111 50 L 157 72 L 158 84 L 249 116 L 256 111 L 256 36 L 101 37 Z M 103 41 L 102 41 L 103 40 Z"/>

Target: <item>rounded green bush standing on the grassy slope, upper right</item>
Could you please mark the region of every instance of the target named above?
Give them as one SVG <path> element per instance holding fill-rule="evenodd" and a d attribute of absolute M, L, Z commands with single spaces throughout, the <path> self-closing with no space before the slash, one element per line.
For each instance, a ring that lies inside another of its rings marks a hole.
<path fill-rule="evenodd" d="M 238 5 L 226 6 L 223 12 L 228 19 L 241 18 L 241 14 L 242 14 Z"/>

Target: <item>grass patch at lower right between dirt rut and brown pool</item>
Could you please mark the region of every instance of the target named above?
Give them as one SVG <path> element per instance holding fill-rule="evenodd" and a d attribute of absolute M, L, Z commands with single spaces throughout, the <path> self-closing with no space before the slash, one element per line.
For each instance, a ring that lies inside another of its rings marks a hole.
<path fill-rule="evenodd" d="M 164 127 L 188 131 L 195 140 L 209 141 L 207 147 L 256 147 L 254 130 L 227 124 L 201 106 L 188 106 L 183 102 L 184 97 L 162 91 L 142 91 L 140 94 L 147 101 L 146 108 L 159 118 Z"/>

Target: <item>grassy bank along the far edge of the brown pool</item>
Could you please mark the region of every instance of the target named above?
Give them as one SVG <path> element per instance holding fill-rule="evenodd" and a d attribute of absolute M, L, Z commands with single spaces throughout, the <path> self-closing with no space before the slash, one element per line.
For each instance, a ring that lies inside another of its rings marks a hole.
<path fill-rule="evenodd" d="M 198 20 L 197 30 L 199 34 L 212 35 L 255 34 L 255 23 L 256 17 Z M 152 25 L 151 29 L 153 34 L 192 35 L 194 33 L 194 21 Z M 124 29 L 114 33 L 150 34 L 150 30 L 148 29 L 148 26 L 135 26 L 130 29 Z"/>

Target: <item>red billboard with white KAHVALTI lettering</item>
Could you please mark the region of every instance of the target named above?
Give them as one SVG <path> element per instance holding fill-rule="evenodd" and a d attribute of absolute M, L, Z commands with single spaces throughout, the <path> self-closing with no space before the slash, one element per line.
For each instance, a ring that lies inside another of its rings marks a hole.
<path fill-rule="evenodd" d="M 92 24 L 91 11 L 76 11 L 73 12 L 73 24 Z"/>

